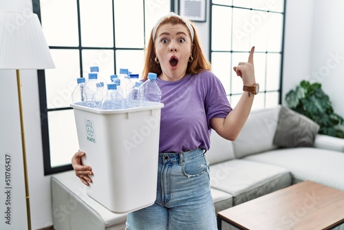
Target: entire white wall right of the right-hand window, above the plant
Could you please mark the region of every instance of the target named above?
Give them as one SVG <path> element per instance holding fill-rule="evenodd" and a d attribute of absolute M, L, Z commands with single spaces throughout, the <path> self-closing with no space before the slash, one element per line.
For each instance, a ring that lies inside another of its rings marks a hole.
<path fill-rule="evenodd" d="M 344 117 L 344 1 L 287 0 L 283 103 L 302 79 L 319 82 Z"/>

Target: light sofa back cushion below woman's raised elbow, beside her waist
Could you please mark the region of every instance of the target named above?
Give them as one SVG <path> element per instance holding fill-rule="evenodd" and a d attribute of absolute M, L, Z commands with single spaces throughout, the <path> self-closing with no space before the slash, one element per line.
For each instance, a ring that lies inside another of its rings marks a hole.
<path fill-rule="evenodd" d="M 206 159 L 210 165 L 234 159 L 233 143 L 219 136 L 215 130 L 211 132 L 211 147 L 206 151 Z"/>

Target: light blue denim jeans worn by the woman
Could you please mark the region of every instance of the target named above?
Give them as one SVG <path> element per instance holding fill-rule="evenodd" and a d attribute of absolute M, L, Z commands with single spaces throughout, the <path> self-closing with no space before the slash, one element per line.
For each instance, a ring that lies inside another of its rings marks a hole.
<path fill-rule="evenodd" d="M 217 229 L 209 182 L 204 149 L 160 153 L 155 203 L 128 213 L 126 229 Z"/>

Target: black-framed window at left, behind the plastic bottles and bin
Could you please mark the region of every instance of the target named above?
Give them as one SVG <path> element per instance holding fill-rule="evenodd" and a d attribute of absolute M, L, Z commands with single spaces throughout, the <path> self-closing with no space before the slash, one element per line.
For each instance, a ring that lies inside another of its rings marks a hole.
<path fill-rule="evenodd" d="M 32 5 L 56 66 L 38 71 L 47 175 L 72 169 L 70 160 L 78 150 L 69 106 L 76 79 L 87 78 L 91 66 L 99 67 L 105 82 L 120 68 L 141 74 L 145 41 L 155 22 L 174 9 L 174 1 L 32 0 Z"/>

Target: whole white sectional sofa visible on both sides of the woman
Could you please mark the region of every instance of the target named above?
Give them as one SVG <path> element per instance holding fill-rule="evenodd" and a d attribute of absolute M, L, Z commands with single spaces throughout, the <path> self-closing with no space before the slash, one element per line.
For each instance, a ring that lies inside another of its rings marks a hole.
<path fill-rule="evenodd" d="M 212 133 L 206 155 L 216 212 L 303 180 L 344 190 L 344 139 L 317 134 L 314 147 L 280 148 L 274 145 L 280 109 L 252 111 L 233 142 Z M 55 174 L 51 182 L 54 229 L 125 229 L 126 214 L 89 198 L 74 171 Z"/>

